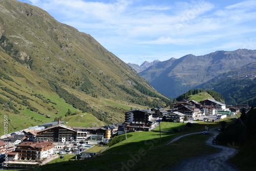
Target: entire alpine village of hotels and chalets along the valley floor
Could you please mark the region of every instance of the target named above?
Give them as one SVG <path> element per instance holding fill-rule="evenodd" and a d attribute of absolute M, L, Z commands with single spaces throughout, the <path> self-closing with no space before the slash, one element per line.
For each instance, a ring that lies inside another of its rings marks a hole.
<path fill-rule="evenodd" d="M 0 163 L 3 168 L 23 169 L 44 165 L 65 153 L 92 157 L 97 154 L 86 152 L 92 146 L 102 146 L 127 132 L 151 131 L 161 121 L 215 122 L 248 108 L 246 104 L 226 108 L 226 104 L 212 99 L 185 100 L 174 102 L 169 109 L 131 109 L 125 112 L 124 122 L 99 127 L 71 127 L 60 120 L 44 123 L 1 136 Z"/>

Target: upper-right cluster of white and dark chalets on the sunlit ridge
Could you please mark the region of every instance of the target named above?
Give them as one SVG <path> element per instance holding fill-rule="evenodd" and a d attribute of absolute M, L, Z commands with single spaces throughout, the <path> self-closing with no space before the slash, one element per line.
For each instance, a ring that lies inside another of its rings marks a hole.
<path fill-rule="evenodd" d="M 174 102 L 170 109 L 152 108 L 147 110 L 133 110 L 125 113 L 124 127 L 127 131 L 149 131 L 156 124 L 158 117 L 172 122 L 183 122 L 185 118 L 199 119 L 204 116 L 233 115 L 248 110 L 249 106 L 241 104 L 226 108 L 226 104 L 213 99 L 206 99 L 200 102 L 194 100 Z M 203 120 L 203 119 L 202 119 Z"/>

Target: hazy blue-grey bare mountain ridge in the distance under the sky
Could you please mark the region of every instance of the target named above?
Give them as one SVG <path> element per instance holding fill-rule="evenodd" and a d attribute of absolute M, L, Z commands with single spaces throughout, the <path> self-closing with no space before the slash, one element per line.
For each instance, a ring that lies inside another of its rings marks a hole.
<path fill-rule="evenodd" d="M 174 98 L 219 74 L 256 61 L 256 50 L 216 51 L 158 62 L 140 75 L 165 96 Z"/>

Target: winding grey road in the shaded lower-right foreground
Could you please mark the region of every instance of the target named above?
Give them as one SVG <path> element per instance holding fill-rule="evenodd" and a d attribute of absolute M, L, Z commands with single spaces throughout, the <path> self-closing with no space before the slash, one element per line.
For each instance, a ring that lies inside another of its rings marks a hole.
<path fill-rule="evenodd" d="M 233 148 L 235 146 L 231 146 L 231 145 L 229 145 L 230 147 L 227 147 L 227 146 L 212 144 L 212 138 L 216 137 L 219 134 L 219 132 L 212 130 L 212 131 L 209 131 L 209 133 L 214 134 L 214 136 L 210 137 L 206 141 L 206 144 L 217 147 L 217 148 L 221 148 L 221 151 L 218 153 L 214 153 L 206 156 L 200 156 L 200 157 L 193 157 L 191 159 L 185 160 L 180 165 L 178 165 L 174 169 L 174 171 L 181 171 L 181 170 L 184 170 L 184 171 L 201 171 L 201 170 L 203 171 L 211 171 L 211 170 L 212 171 L 219 171 L 219 170 L 220 171 L 222 170 L 239 171 L 238 168 L 232 166 L 227 162 L 229 158 L 233 157 L 238 153 L 238 149 Z M 202 132 L 185 134 L 185 135 L 176 137 L 175 139 L 169 141 L 166 144 L 172 143 L 184 136 L 188 136 L 192 134 L 202 134 Z"/>

